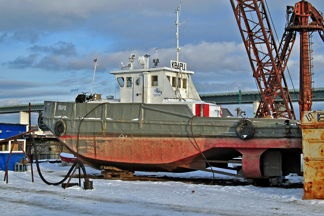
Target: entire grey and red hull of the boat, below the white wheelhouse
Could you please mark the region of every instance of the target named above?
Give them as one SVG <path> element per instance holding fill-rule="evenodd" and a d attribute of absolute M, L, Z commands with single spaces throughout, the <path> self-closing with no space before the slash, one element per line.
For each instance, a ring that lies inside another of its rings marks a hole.
<path fill-rule="evenodd" d="M 206 168 L 203 152 L 211 161 L 242 157 L 242 176 L 262 178 L 264 152 L 276 150 L 285 157 L 300 154 L 302 149 L 301 131 L 292 120 L 250 119 L 255 133 L 251 139 L 241 140 L 235 131 L 242 118 L 192 118 L 187 105 L 46 101 L 42 123 L 55 134 L 55 124 L 62 119 L 66 131 L 58 139 L 76 157 L 98 168 L 111 165 L 131 171 L 202 170 Z"/>

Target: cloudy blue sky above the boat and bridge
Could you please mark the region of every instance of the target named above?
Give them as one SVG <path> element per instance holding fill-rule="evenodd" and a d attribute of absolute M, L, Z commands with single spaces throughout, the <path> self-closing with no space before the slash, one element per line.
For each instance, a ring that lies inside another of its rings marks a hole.
<path fill-rule="evenodd" d="M 296 2 L 267 2 L 279 38 L 284 33 L 286 5 Z M 310 3 L 324 11 L 321 0 Z M 127 65 L 130 54 L 149 54 L 153 66 L 157 48 L 159 66 L 169 67 L 170 60 L 176 60 L 178 6 L 180 1 L 171 0 L 0 0 L 0 106 L 74 101 L 76 95 L 91 90 L 94 59 L 101 66 L 96 68 L 93 92 L 119 97 L 109 71 L 120 70 L 120 62 Z M 237 92 L 243 84 L 244 91 L 257 90 L 230 1 L 182 0 L 179 22 L 187 19 L 187 25 L 179 27 L 179 61 L 195 72 L 192 80 L 198 93 Z M 314 87 L 324 87 L 324 43 L 317 32 L 312 40 Z M 298 88 L 298 42 L 288 69 Z M 286 78 L 292 88 L 289 75 Z M 314 103 L 313 109 L 323 105 Z M 252 105 L 239 106 L 252 115 Z M 236 107 L 229 106 L 230 111 L 234 113 Z M 298 104 L 294 108 L 297 113 Z M 0 122 L 18 121 L 18 114 L 0 115 Z"/>

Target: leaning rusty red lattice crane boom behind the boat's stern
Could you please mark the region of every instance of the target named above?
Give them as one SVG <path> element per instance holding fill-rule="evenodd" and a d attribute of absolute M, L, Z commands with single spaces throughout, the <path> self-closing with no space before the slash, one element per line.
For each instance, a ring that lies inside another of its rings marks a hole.
<path fill-rule="evenodd" d="M 237 6 L 231 0 L 232 8 L 262 96 L 255 117 L 273 115 L 274 118 L 296 119 L 284 77 L 286 61 L 280 59 L 263 0 L 236 1 Z M 282 55 L 287 57 L 285 53 Z"/>

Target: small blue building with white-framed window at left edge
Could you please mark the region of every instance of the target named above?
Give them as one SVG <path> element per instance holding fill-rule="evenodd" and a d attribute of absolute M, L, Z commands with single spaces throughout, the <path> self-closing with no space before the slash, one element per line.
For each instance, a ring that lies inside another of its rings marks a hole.
<path fill-rule="evenodd" d="M 13 140 L 8 142 L 1 142 L 8 137 L 18 135 L 27 131 L 27 127 L 24 124 L 12 124 L 12 123 L 0 123 L 0 170 L 6 170 L 6 163 L 9 157 L 11 146 L 14 145 L 13 151 L 8 163 L 8 170 L 14 171 L 14 164 L 19 163 L 20 159 L 25 157 L 22 149 L 18 144 L 14 144 Z M 26 139 L 17 139 L 20 145 L 26 148 Z"/>

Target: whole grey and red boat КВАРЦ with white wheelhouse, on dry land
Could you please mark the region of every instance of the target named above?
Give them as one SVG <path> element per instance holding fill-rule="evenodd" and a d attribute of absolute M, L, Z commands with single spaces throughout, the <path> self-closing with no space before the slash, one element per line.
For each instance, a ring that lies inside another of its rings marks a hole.
<path fill-rule="evenodd" d="M 273 184 L 278 176 L 300 172 L 299 121 L 222 116 L 221 106 L 201 100 L 191 79 L 194 72 L 179 62 L 178 55 L 169 67 L 159 67 L 156 56 L 150 68 L 146 54 L 137 58 L 135 69 L 135 59 L 130 54 L 127 66 L 110 71 L 120 87 L 120 99 L 101 98 L 91 90 L 75 102 L 44 101 L 40 128 L 98 169 L 203 170 L 267 178 Z"/>

